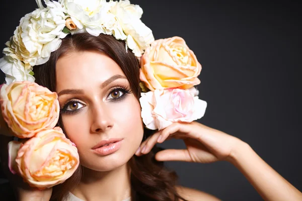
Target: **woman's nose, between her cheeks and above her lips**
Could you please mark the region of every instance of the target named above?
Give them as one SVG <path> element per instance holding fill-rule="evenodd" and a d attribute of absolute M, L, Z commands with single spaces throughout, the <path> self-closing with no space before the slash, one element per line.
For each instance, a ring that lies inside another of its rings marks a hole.
<path fill-rule="evenodd" d="M 92 108 L 92 133 L 102 133 L 110 130 L 113 127 L 114 121 L 110 116 L 108 107 L 97 106 Z"/>

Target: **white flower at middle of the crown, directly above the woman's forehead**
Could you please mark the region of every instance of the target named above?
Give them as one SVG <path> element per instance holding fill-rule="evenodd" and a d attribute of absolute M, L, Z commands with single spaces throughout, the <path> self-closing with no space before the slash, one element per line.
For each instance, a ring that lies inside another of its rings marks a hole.
<path fill-rule="evenodd" d="M 109 15 L 112 2 L 107 3 L 106 0 L 63 0 L 61 4 L 79 28 L 78 32 L 83 32 L 82 29 L 85 29 L 94 36 L 100 33 L 107 34 L 109 30 L 106 31 L 105 24 L 114 19 L 113 15 Z"/>

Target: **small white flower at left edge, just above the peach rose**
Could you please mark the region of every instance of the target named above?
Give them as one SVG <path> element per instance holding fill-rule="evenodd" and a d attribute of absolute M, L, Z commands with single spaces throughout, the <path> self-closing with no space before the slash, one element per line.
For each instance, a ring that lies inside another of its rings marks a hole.
<path fill-rule="evenodd" d="M 11 84 L 15 81 L 35 81 L 35 78 L 29 74 L 32 68 L 26 69 L 22 61 L 10 56 L 5 56 L 0 59 L 0 69 L 6 75 L 5 80 L 7 84 Z"/>

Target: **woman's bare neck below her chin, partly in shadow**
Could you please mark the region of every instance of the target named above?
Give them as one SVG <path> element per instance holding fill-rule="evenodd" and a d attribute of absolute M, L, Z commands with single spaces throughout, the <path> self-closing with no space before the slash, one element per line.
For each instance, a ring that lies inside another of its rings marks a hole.
<path fill-rule="evenodd" d="M 71 193 L 83 200 L 121 201 L 131 196 L 128 164 L 107 172 L 83 169 L 80 184 Z M 100 199 L 101 198 L 101 199 Z"/>

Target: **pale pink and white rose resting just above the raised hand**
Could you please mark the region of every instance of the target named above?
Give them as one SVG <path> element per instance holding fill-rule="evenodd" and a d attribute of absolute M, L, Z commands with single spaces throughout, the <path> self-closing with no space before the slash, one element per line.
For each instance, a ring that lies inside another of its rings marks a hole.
<path fill-rule="evenodd" d="M 148 129 L 162 130 L 174 122 L 192 122 L 203 117 L 206 102 L 191 89 L 155 89 L 141 93 L 142 121 Z"/>

